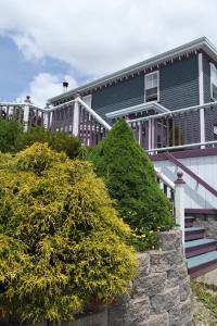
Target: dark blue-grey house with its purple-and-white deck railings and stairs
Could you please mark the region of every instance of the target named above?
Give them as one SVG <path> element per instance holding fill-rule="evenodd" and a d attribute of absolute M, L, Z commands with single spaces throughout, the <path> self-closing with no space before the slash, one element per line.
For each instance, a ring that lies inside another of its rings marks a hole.
<path fill-rule="evenodd" d="M 101 141 L 117 118 L 126 118 L 169 199 L 177 173 L 179 185 L 180 171 L 184 174 L 180 205 L 190 274 L 217 266 L 217 49 L 207 38 L 64 91 L 44 109 L 29 98 L 0 103 L 0 116 L 17 117 L 25 128 L 40 124 L 64 130 L 87 146 Z"/>

